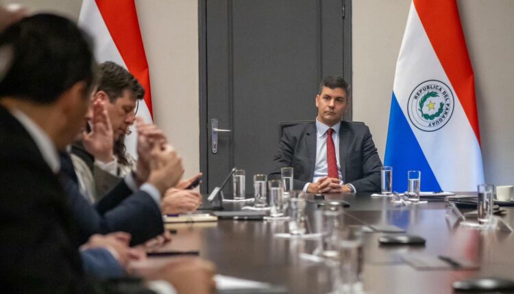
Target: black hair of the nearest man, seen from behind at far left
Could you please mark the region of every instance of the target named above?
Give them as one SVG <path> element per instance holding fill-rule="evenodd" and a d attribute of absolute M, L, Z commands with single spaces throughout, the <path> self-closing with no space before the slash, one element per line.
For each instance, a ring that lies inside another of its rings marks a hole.
<path fill-rule="evenodd" d="M 23 18 L 1 32 L 0 48 L 10 48 L 13 53 L 0 81 L 0 97 L 49 104 L 75 83 L 84 81 L 89 88 L 94 81 L 90 38 L 62 16 Z"/>

